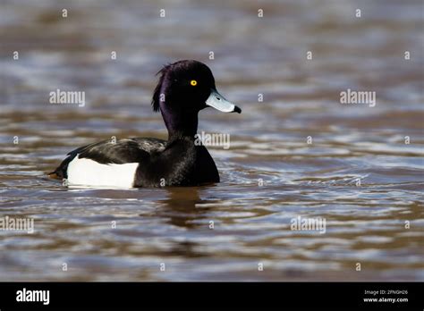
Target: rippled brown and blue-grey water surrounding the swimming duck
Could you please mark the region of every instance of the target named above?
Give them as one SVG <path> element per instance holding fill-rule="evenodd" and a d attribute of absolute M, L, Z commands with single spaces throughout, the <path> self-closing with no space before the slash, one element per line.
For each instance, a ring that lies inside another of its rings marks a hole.
<path fill-rule="evenodd" d="M 0 216 L 35 222 L 0 231 L 0 281 L 424 281 L 422 1 L 0 5 Z M 191 58 L 243 109 L 200 113 L 199 132 L 231 135 L 228 150 L 208 147 L 221 183 L 47 179 L 75 147 L 165 139 L 154 75 Z M 56 88 L 85 91 L 86 105 L 50 105 Z M 340 104 L 347 88 L 376 91 L 377 105 Z M 298 216 L 325 218 L 326 232 L 291 230 Z"/>

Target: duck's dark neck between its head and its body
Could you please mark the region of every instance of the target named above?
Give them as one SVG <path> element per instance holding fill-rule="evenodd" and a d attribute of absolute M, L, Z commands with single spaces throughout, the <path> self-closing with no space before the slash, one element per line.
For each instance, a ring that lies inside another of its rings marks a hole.
<path fill-rule="evenodd" d="M 197 112 L 171 112 L 162 111 L 162 117 L 168 130 L 168 140 L 191 138 L 194 139 L 198 131 Z"/>

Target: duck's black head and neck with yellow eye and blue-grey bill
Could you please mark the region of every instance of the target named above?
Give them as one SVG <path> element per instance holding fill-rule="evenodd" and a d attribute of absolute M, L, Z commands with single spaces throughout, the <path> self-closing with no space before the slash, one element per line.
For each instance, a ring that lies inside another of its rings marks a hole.
<path fill-rule="evenodd" d="M 222 97 L 215 86 L 212 71 L 193 60 L 166 65 L 161 71 L 152 99 L 154 111 L 160 111 L 170 134 L 173 131 L 195 134 L 198 113 L 212 106 L 225 113 L 242 110 Z"/>

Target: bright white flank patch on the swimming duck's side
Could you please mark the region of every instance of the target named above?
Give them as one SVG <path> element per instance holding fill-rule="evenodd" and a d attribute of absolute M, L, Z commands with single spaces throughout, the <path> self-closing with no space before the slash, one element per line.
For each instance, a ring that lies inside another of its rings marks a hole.
<path fill-rule="evenodd" d="M 80 155 L 68 165 L 68 185 L 132 188 L 138 163 L 99 164 Z"/>

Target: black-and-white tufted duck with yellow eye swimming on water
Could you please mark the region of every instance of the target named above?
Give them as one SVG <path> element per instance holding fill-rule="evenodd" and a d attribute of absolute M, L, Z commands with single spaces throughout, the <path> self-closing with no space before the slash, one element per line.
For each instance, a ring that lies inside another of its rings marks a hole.
<path fill-rule="evenodd" d="M 168 140 L 103 140 L 68 154 L 49 175 L 68 185 L 92 187 L 196 186 L 219 182 L 214 160 L 195 144 L 198 113 L 208 106 L 242 113 L 216 90 L 212 71 L 192 60 L 166 65 L 152 98 L 168 130 Z"/>

